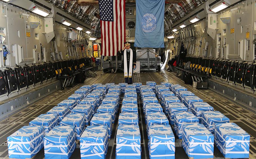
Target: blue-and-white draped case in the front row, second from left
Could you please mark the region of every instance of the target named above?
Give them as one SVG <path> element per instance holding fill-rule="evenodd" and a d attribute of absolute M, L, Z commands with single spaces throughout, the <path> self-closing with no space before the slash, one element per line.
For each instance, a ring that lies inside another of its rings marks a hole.
<path fill-rule="evenodd" d="M 56 126 L 44 137 L 45 159 L 69 159 L 75 148 L 74 126 Z"/>

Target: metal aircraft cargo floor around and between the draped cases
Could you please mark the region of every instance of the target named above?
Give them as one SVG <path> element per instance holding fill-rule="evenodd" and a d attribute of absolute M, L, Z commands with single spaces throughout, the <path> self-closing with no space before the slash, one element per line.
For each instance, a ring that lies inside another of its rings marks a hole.
<path fill-rule="evenodd" d="M 56 106 L 59 102 L 64 99 L 67 99 L 69 95 L 74 93 L 75 90 L 80 88 L 82 85 L 91 85 L 94 83 L 122 83 L 124 82 L 122 73 L 105 73 L 97 72 L 98 76 L 95 78 L 87 78 L 86 81 L 82 84 L 74 85 L 72 88 L 66 88 L 65 90 L 60 90 L 51 94 L 50 96 L 40 100 L 39 102 L 33 104 L 32 106 L 23 109 L 19 113 L 16 113 L 10 116 L 8 119 L 0 122 L 0 159 L 8 158 L 8 147 L 6 144 L 6 137 L 17 131 L 19 128 L 24 125 L 28 125 L 29 121 L 36 118 L 40 114 L 46 113 L 52 107 Z M 205 102 L 214 107 L 215 110 L 220 111 L 228 118 L 231 122 L 236 123 L 241 128 L 246 130 L 251 135 L 250 140 L 250 159 L 255 159 L 256 157 L 256 114 L 251 113 L 248 110 L 243 109 L 242 107 L 234 104 L 232 101 L 227 100 L 216 93 L 210 90 L 197 90 L 190 85 L 184 84 L 175 73 L 170 73 L 167 71 L 160 72 L 150 72 L 150 73 L 140 73 L 134 74 L 134 82 L 141 82 L 143 85 L 146 84 L 146 81 L 155 81 L 157 84 L 160 84 L 163 81 L 167 81 L 174 84 L 180 84 L 188 88 L 189 91 L 193 92 L 195 95 L 203 99 Z M 139 113 L 140 113 L 140 132 L 142 137 L 142 159 L 149 159 L 149 151 L 147 147 L 148 139 L 146 134 L 146 125 L 144 120 L 144 115 L 142 111 L 141 99 L 139 99 Z M 119 108 L 120 111 L 120 108 Z M 118 118 L 117 118 L 118 119 Z M 117 131 L 117 120 L 114 123 L 113 133 L 109 141 L 109 148 L 107 152 L 107 159 L 115 158 L 115 137 Z M 176 159 L 186 159 L 188 158 L 185 151 L 183 150 L 181 143 L 176 140 Z M 44 150 L 42 149 L 35 158 L 44 158 Z M 77 148 L 73 155 L 72 159 L 80 158 L 80 151 Z M 214 149 L 214 158 L 223 158 L 223 155 L 219 152 L 217 148 Z"/>

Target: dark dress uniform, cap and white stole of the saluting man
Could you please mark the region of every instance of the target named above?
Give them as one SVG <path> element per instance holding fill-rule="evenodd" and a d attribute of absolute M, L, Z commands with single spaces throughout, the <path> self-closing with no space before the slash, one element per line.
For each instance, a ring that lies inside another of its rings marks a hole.
<path fill-rule="evenodd" d="M 130 46 L 130 42 L 126 42 L 125 46 Z M 124 72 L 125 83 L 132 84 L 133 83 L 133 67 L 136 66 L 136 51 L 124 49 L 118 51 L 117 55 L 123 55 L 123 61 L 121 64 L 121 68 Z"/>

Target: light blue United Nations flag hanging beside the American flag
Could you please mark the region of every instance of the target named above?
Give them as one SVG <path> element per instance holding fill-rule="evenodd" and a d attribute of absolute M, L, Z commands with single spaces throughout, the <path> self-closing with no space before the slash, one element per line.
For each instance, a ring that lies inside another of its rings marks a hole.
<path fill-rule="evenodd" d="M 135 47 L 164 47 L 165 0 L 136 1 Z"/>

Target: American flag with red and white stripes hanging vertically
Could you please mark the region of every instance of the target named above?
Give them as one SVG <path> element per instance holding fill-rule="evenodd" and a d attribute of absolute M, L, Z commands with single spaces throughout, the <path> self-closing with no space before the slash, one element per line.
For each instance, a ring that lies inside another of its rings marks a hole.
<path fill-rule="evenodd" d="M 116 56 L 125 42 L 125 0 L 99 0 L 101 55 Z"/>

